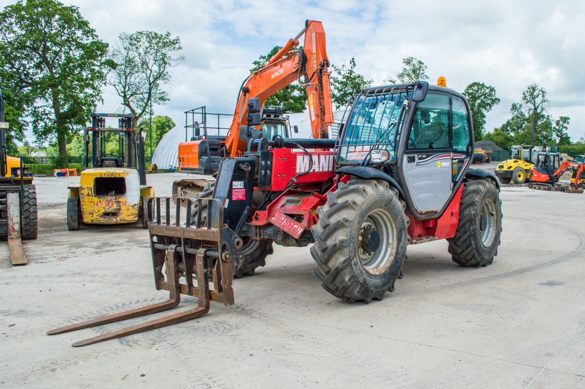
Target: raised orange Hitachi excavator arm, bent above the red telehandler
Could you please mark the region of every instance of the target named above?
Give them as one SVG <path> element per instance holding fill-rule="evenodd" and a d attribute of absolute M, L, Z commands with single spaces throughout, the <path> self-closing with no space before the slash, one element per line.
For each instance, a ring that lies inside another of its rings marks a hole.
<path fill-rule="evenodd" d="M 303 34 L 304 45 L 300 48 L 299 38 Z M 240 128 L 246 126 L 250 99 L 259 98 L 260 105 L 263 105 L 266 99 L 295 81 L 307 89 L 313 138 L 327 138 L 333 123 L 328 67 L 323 25 L 307 20 L 305 28 L 294 39 L 289 39 L 264 67 L 250 74 L 243 82 L 226 137 L 228 154 L 238 157 L 246 151 L 249 138 L 246 134 L 240 134 Z"/>

